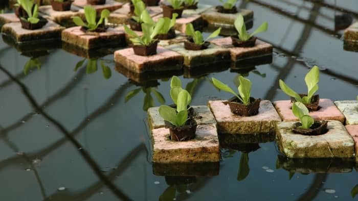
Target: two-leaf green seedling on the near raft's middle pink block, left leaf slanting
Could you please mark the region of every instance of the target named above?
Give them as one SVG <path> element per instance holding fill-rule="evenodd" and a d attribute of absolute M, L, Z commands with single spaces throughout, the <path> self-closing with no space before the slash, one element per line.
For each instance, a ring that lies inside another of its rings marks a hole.
<path fill-rule="evenodd" d="M 215 87 L 234 94 L 237 98 L 239 98 L 243 105 L 250 105 L 251 82 L 249 79 L 239 76 L 240 85 L 237 88 L 239 95 L 235 93 L 234 90 L 232 90 L 228 85 L 220 82 L 215 78 L 212 78 L 212 80 Z"/>

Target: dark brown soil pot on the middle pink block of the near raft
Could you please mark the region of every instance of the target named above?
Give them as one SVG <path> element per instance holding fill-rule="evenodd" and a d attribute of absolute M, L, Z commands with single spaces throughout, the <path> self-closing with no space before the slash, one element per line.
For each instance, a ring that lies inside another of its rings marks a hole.
<path fill-rule="evenodd" d="M 245 106 L 241 103 L 236 96 L 230 98 L 226 102 L 222 102 L 225 105 L 229 105 L 233 114 L 240 116 L 253 116 L 259 113 L 260 98 L 250 97 L 250 105 Z"/>

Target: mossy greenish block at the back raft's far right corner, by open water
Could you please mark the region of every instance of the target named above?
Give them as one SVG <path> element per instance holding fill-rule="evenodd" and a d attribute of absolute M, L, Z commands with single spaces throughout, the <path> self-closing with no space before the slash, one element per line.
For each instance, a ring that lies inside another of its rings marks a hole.
<path fill-rule="evenodd" d="M 245 22 L 252 21 L 254 12 L 251 10 L 238 9 L 237 13 L 219 13 L 215 8 L 209 9 L 202 13 L 202 17 L 210 24 L 223 27 L 234 27 L 237 16 L 241 14 Z"/>

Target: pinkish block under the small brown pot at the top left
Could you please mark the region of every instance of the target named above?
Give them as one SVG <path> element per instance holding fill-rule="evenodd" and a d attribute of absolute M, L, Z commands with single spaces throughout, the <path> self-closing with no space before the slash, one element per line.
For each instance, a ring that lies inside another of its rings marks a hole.
<path fill-rule="evenodd" d="M 72 6 L 72 10 L 76 10 L 74 9 L 75 6 Z M 47 17 L 53 21 L 55 21 L 56 23 L 61 24 L 64 27 L 74 27 L 76 26 L 75 23 L 73 22 L 71 17 L 74 16 L 79 16 L 84 18 L 83 13 L 80 13 L 78 11 L 54 11 L 52 9 L 52 6 L 40 6 L 38 8 L 38 12 L 42 13 L 44 17 Z M 79 10 L 79 9 L 77 9 Z"/>

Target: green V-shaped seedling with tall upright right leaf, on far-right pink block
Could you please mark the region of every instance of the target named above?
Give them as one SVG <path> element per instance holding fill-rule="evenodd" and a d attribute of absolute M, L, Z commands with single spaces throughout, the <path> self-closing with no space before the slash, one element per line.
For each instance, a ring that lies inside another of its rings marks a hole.
<path fill-rule="evenodd" d="M 304 103 L 304 104 L 310 104 L 312 96 L 318 91 L 318 82 L 319 82 L 319 76 L 320 76 L 320 70 L 317 66 L 314 66 L 307 74 L 304 79 L 307 85 L 307 96 L 304 96 L 301 98 L 301 96 L 296 93 L 294 90 L 289 88 L 281 79 L 280 79 L 280 88 L 283 92 L 285 92 L 287 95 L 294 97 L 296 101 Z"/>

